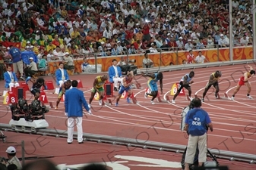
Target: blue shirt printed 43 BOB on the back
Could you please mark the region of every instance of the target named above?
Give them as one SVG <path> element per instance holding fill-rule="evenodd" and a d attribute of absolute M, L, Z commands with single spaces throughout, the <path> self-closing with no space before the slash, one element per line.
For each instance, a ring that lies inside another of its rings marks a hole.
<path fill-rule="evenodd" d="M 185 123 L 188 124 L 188 134 L 201 136 L 207 132 L 206 125 L 211 122 L 208 113 L 201 108 L 189 110 Z"/>

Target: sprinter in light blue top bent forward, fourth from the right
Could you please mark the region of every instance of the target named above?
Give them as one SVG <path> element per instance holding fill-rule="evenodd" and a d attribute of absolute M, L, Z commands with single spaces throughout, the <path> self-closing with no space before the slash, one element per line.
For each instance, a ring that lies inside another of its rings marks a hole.
<path fill-rule="evenodd" d="M 150 79 L 147 81 L 147 86 L 148 88 L 150 88 L 150 93 L 145 93 L 145 98 L 147 98 L 147 96 L 152 96 L 151 99 L 151 104 L 155 104 L 153 102 L 153 100 L 157 97 L 158 94 L 158 87 L 157 87 L 157 82 L 160 81 L 160 88 L 161 88 L 161 94 L 163 94 L 163 73 L 159 72 L 159 73 L 153 73 L 150 75 L 142 75 L 142 76 L 148 76 L 150 77 Z"/>

